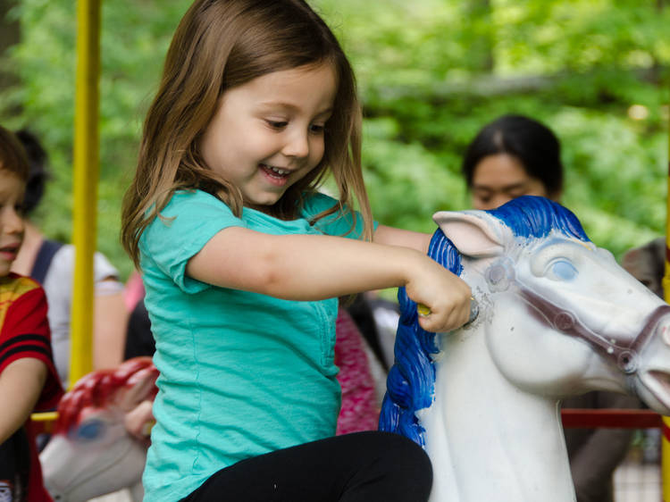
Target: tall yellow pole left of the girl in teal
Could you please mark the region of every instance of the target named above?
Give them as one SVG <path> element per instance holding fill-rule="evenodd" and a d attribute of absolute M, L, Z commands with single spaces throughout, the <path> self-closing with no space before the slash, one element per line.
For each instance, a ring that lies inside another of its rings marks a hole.
<path fill-rule="evenodd" d="M 96 248 L 100 0 L 77 4 L 77 81 L 74 119 L 76 249 L 71 311 L 70 386 L 93 369 L 93 254 Z"/>

